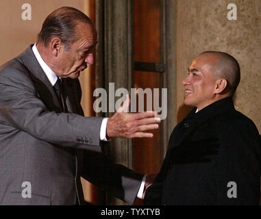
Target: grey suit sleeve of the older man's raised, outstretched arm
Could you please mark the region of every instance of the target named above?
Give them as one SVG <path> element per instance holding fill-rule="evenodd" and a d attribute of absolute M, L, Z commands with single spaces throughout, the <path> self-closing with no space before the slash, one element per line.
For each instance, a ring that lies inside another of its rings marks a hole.
<path fill-rule="evenodd" d="M 62 146 L 99 146 L 102 118 L 49 111 L 26 73 L 7 68 L 0 73 L 0 114 L 14 131 Z"/>

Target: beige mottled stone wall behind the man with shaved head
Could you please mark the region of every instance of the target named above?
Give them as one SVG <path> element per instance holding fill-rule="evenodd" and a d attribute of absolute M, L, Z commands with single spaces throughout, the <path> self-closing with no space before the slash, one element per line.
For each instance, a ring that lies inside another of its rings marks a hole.
<path fill-rule="evenodd" d="M 237 20 L 227 18 L 234 3 Z M 241 81 L 234 103 L 261 133 L 261 1 L 177 0 L 177 120 L 186 115 L 182 105 L 186 77 L 192 60 L 206 50 L 224 51 L 238 60 Z"/>

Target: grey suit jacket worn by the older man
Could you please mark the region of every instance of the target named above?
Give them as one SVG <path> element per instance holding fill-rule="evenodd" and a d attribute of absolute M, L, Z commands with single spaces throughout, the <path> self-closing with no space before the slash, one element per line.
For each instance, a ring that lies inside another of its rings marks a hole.
<path fill-rule="evenodd" d="M 84 117 L 81 96 L 79 80 L 64 79 L 64 99 L 69 112 L 62 112 L 32 45 L 1 66 L 2 205 L 81 203 L 80 176 L 127 203 L 134 202 L 142 175 L 114 165 L 101 155 L 99 133 L 103 118 Z M 21 195 L 24 182 L 32 185 L 31 198 Z"/>

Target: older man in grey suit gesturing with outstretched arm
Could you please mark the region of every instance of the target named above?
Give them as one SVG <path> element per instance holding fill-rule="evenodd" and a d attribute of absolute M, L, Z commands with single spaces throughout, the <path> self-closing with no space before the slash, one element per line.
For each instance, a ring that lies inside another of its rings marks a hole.
<path fill-rule="evenodd" d="M 0 68 L 0 204 L 82 203 L 79 177 L 132 204 L 142 175 L 101 156 L 101 140 L 151 138 L 153 112 L 84 117 L 80 71 L 93 62 L 97 34 L 75 8 L 51 13 L 36 44 Z M 84 156 L 84 151 L 89 156 Z M 141 189 L 142 190 L 142 189 Z"/>

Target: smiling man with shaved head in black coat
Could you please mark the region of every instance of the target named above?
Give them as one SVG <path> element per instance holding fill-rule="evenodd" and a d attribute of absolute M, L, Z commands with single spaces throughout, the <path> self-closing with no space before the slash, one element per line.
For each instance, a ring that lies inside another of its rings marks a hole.
<path fill-rule="evenodd" d="M 145 205 L 258 205 L 260 137 L 234 108 L 239 81 L 231 55 L 205 51 L 195 57 L 182 82 L 184 104 L 194 108 L 171 133 Z"/>

